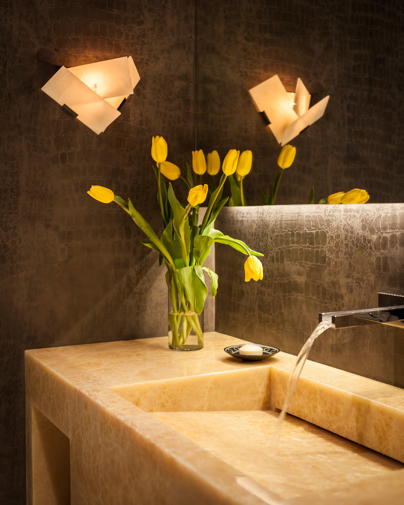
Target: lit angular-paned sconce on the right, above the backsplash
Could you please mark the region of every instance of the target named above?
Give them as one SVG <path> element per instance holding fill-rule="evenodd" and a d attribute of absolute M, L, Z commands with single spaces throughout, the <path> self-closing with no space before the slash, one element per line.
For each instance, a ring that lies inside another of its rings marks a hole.
<path fill-rule="evenodd" d="M 280 78 L 270 79 L 249 90 L 258 110 L 266 116 L 276 140 L 285 145 L 324 114 L 330 95 L 309 109 L 311 95 L 300 79 L 296 91 L 288 93 Z"/>

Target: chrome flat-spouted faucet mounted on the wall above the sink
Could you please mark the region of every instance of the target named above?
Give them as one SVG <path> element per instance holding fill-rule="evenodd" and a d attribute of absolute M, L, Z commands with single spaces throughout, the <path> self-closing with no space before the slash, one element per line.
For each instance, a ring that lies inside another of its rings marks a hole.
<path fill-rule="evenodd" d="M 318 315 L 319 322 L 330 321 L 332 328 L 349 328 L 363 324 L 382 323 L 404 329 L 404 295 L 379 293 L 378 307 L 373 309 L 323 312 Z"/>

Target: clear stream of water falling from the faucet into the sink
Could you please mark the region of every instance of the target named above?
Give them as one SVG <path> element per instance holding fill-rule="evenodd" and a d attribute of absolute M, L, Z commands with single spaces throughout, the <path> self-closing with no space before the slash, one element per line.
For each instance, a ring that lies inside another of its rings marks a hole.
<path fill-rule="evenodd" d="M 279 415 L 279 418 L 277 420 L 276 426 L 275 426 L 275 431 L 273 432 L 272 439 L 271 439 L 271 446 L 270 450 L 275 453 L 276 448 L 279 442 L 279 438 L 281 436 L 281 430 L 282 430 L 282 422 L 285 419 L 286 416 L 286 411 L 289 408 L 289 403 L 290 400 L 292 399 L 294 390 L 296 389 L 297 382 L 299 380 L 301 370 L 303 369 L 304 364 L 306 363 L 307 357 L 309 356 L 309 352 L 312 348 L 312 345 L 314 341 L 316 340 L 317 337 L 319 337 L 325 330 L 329 329 L 331 327 L 331 319 L 322 321 L 314 329 L 314 332 L 310 335 L 308 340 L 306 341 L 305 345 L 300 349 L 300 352 L 297 355 L 296 363 L 293 367 L 292 373 L 289 376 L 289 381 L 288 381 L 288 390 L 284 402 L 283 409 Z"/>

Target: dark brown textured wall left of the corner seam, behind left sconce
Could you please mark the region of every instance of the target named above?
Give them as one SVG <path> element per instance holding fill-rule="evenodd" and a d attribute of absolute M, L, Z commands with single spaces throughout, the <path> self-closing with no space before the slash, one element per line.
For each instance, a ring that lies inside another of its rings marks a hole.
<path fill-rule="evenodd" d="M 0 9 L 0 502 L 21 504 L 23 349 L 166 332 L 155 253 L 129 216 L 86 191 L 98 184 L 130 196 L 160 229 L 150 146 L 163 135 L 183 165 L 194 145 L 194 9 L 187 0 L 16 0 Z M 40 90 L 62 64 L 129 55 L 141 80 L 99 136 Z"/>

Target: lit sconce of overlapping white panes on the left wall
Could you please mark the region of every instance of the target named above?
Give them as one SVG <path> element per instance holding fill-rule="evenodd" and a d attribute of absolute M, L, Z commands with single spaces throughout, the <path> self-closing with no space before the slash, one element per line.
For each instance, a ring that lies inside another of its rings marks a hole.
<path fill-rule="evenodd" d="M 62 66 L 41 88 L 96 134 L 120 116 L 119 107 L 140 81 L 132 56 Z"/>

